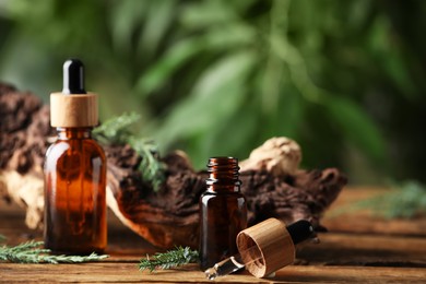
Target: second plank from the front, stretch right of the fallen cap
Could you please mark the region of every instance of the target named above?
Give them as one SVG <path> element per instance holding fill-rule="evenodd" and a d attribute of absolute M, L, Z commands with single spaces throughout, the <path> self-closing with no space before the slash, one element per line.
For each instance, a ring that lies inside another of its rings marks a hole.
<path fill-rule="evenodd" d="M 426 268 L 426 239 L 384 235 L 319 235 L 321 244 L 297 251 L 300 263 L 359 267 Z"/>

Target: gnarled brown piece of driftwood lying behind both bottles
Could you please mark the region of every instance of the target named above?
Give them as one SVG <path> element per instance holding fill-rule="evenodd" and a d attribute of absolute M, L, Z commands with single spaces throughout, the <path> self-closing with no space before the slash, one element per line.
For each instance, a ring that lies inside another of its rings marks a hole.
<path fill-rule="evenodd" d="M 26 224 L 43 226 L 43 161 L 49 138 L 49 109 L 31 93 L 0 84 L 0 197 L 26 208 Z M 107 204 L 120 221 L 151 244 L 197 247 L 198 201 L 205 171 L 196 171 L 180 151 L 163 158 L 166 180 L 158 192 L 142 179 L 142 161 L 129 145 L 105 146 L 108 161 Z M 286 223 L 320 217 L 346 184 L 335 168 L 300 170 L 294 141 L 274 138 L 240 163 L 241 191 L 249 224 L 269 217 Z"/>

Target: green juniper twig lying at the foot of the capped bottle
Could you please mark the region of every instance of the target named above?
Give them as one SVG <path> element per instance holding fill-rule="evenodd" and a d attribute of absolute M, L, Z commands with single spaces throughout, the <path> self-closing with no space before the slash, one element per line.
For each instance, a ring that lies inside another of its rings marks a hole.
<path fill-rule="evenodd" d="M 1 236 L 1 235 L 0 235 Z M 5 239 L 2 236 L 3 239 Z M 108 258 L 107 255 L 92 253 L 90 256 L 55 256 L 49 255 L 49 249 L 42 248 L 43 241 L 26 241 L 17 246 L 1 246 L 0 262 L 9 261 L 16 263 L 80 263 L 88 261 L 98 261 Z"/>

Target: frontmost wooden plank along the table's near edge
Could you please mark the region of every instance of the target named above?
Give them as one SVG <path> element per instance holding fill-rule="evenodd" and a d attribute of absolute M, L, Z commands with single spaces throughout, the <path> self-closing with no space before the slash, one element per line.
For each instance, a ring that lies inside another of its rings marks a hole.
<path fill-rule="evenodd" d="M 64 283 L 212 283 L 196 265 L 178 270 L 140 272 L 134 263 L 1 264 L 0 282 Z M 247 273 L 216 280 L 218 283 L 424 283 L 425 269 L 289 265 L 273 279 L 256 279 Z"/>

